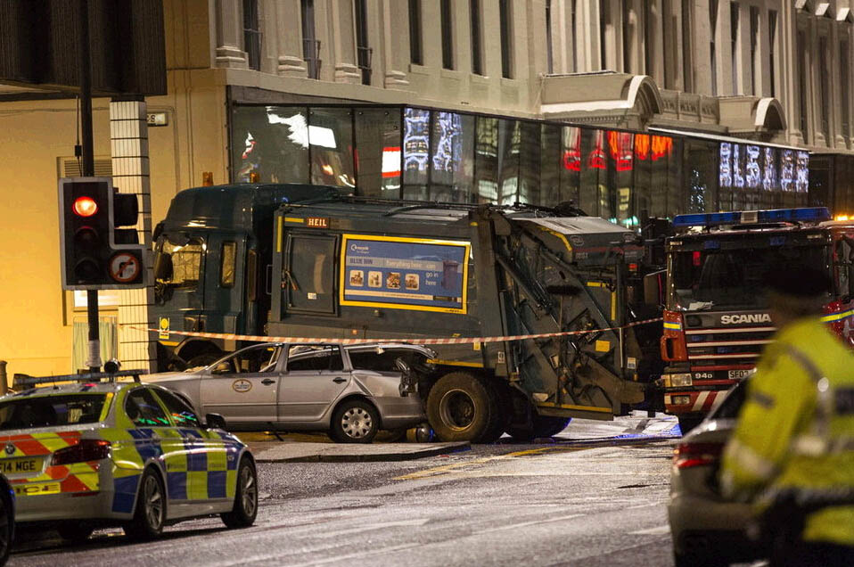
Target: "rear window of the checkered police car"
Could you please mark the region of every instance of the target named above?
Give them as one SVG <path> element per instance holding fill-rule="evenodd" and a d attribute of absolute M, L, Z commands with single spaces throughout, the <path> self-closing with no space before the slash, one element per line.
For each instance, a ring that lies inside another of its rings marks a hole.
<path fill-rule="evenodd" d="M 106 394 L 10 399 L 0 403 L 0 430 L 97 423 L 106 401 Z"/>

